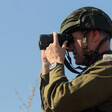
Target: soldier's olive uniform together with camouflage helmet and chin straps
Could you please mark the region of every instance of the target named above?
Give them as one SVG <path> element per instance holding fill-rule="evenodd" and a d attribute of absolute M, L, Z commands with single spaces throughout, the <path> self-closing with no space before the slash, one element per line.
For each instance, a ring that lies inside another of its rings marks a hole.
<path fill-rule="evenodd" d="M 112 112 L 112 51 L 99 54 L 99 48 L 112 37 L 112 21 L 102 10 L 84 7 L 72 12 L 61 24 L 61 34 L 83 33 L 83 51 L 87 68 L 71 82 L 58 65 L 41 75 L 40 94 L 43 112 Z M 87 32 L 104 31 L 108 35 L 95 51 L 88 53 Z M 85 33 L 86 31 L 86 33 Z M 94 59 L 93 59 L 94 58 Z"/>

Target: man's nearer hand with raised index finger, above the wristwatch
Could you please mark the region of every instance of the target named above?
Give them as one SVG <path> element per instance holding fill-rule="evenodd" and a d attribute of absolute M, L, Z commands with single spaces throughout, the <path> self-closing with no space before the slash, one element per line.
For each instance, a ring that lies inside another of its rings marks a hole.
<path fill-rule="evenodd" d="M 67 41 L 65 41 L 62 47 L 60 47 L 56 32 L 53 32 L 53 39 L 53 43 L 50 44 L 45 50 L 45 56 L 50 64 L 53 62 L 64 64 Z"/>

